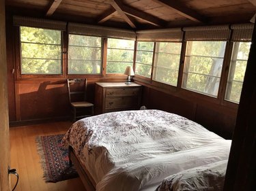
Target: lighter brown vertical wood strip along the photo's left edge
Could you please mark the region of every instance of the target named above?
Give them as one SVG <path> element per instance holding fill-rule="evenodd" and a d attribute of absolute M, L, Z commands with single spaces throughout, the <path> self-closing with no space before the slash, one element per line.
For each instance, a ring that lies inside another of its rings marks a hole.
<path fill-rule="evenodd" d="M 8 75 L 5 40 L 5 1 L 0 0 L 0 190 L 10 190 L 8 165 L 10 161 L 8 118 Z"/>

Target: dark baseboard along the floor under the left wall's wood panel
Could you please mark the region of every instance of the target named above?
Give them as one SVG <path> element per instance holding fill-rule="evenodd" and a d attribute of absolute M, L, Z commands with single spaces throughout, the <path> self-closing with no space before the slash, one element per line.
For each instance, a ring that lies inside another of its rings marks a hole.
<path fill-rule="evenodd" d="M 9 122 L 10 127 L 14 126 L 25 126 L 30 124 L 42 124 L 47 122 L 59 122 L 59 121 L 72 121 L 72 116 L 62 116 L 56 118 L 42 118 L 42 119 L 34 119 L 34 120 L 20 120 L 20 121 L 11 121 Z"/>

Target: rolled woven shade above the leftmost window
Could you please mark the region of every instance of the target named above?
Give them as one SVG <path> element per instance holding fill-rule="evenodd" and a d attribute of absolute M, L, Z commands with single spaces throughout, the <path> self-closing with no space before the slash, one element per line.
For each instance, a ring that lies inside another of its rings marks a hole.
<path fill-rule="evenodd" d="M 59 20 L 48 20 L 43 18 L 30 18 L 25 16 L 14 16 L 14 26 L 35 27 L 42 29 L 53 29 L 59 31 L 66 31 L 67 22 Z"/>

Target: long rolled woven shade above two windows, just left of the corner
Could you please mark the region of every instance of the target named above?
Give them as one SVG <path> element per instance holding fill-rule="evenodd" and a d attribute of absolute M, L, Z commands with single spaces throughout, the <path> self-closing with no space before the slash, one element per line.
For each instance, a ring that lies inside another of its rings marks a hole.
<path fill-rule="evenodd" d="M 132 30 L 101 27 L 89 24 L 68 23 L 68 33 L 76 35 L 89 35 L 94 37 L 109 37 L 117 39 L 136 39 L 136 33 Z"/>

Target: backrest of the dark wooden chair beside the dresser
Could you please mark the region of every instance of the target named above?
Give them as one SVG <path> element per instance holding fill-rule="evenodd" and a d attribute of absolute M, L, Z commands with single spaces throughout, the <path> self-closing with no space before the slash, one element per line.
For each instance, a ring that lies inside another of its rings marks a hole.
<path fill-rule="evenodd" d="M 70 103 L 74 101 L 86 101 L 87 79 L 68 79 L 68 97 Z"/>

